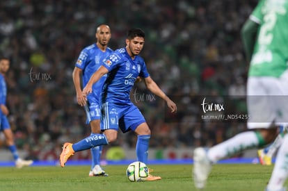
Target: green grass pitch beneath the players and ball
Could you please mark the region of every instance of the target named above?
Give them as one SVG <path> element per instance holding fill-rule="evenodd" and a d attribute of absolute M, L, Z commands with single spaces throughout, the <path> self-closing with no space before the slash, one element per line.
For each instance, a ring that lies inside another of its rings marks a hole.
<path fill-rule="evenodd" d="M 108 177 L 89 177 L 89 166 L 67 167 L 0 167 L 0 190 L 196 190 L 191 169 L 193 165 L 150 165 L 152 174 L 161 181 L 129 182 L 126 165 L 108 165 Z M 214 165 L 207 191 L 264 190 L 273 166 L 253 164 Z"/>

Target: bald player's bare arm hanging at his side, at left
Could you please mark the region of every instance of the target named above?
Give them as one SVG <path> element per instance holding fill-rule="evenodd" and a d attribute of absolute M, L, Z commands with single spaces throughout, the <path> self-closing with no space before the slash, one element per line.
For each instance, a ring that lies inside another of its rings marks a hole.
<path fill-rule="evenodd" d="M 74 67 L 72 77 L 73 77 L 74 87 L 76 90 L 77 102 L 80 106 L 85 106 L 86 98 L 83 97 L 82 90 L 81 90 L 81 81 L 80 81 L 81 74 L 82 74 L 82 69 L 80 69 L 79 67 Z"/>

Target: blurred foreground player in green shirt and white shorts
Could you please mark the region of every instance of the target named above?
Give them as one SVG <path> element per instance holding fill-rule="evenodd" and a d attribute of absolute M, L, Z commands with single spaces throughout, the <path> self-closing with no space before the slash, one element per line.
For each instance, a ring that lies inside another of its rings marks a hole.
<path fill-rule="evenodd" d="M 211 164 L 252 148 L 270 144 L 280 125 L 288 122 L 288 0 L 261 0 L 244 24 L 241 35 L 250 59 L 247 83 L 248 129 L 211 147 L 194 150 L 193 178 L 204 188 Z M 288 135 L 276 157 L 266 190 L 285 190 L 288 176 Z M 265 183 L 266 181 L 264 181 Z"/>

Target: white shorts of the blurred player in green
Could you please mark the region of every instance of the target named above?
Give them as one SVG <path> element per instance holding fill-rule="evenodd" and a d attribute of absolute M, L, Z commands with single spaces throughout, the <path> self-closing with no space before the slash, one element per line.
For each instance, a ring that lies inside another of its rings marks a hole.
<path fill-rule="evenodd" d="M 247 84 L 248 128 L 288 125 L 288 70 L 280 78 L 251 76 Z"/>

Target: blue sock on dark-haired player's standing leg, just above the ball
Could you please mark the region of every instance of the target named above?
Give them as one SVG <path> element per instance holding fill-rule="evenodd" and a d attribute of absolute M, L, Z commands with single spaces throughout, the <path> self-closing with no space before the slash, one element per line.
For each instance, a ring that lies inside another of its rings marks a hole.
<path fill-rule="evenodd" d="M 138 135 L 136 143 L 137 160 L 147 164 L 150 135 Z"/>

